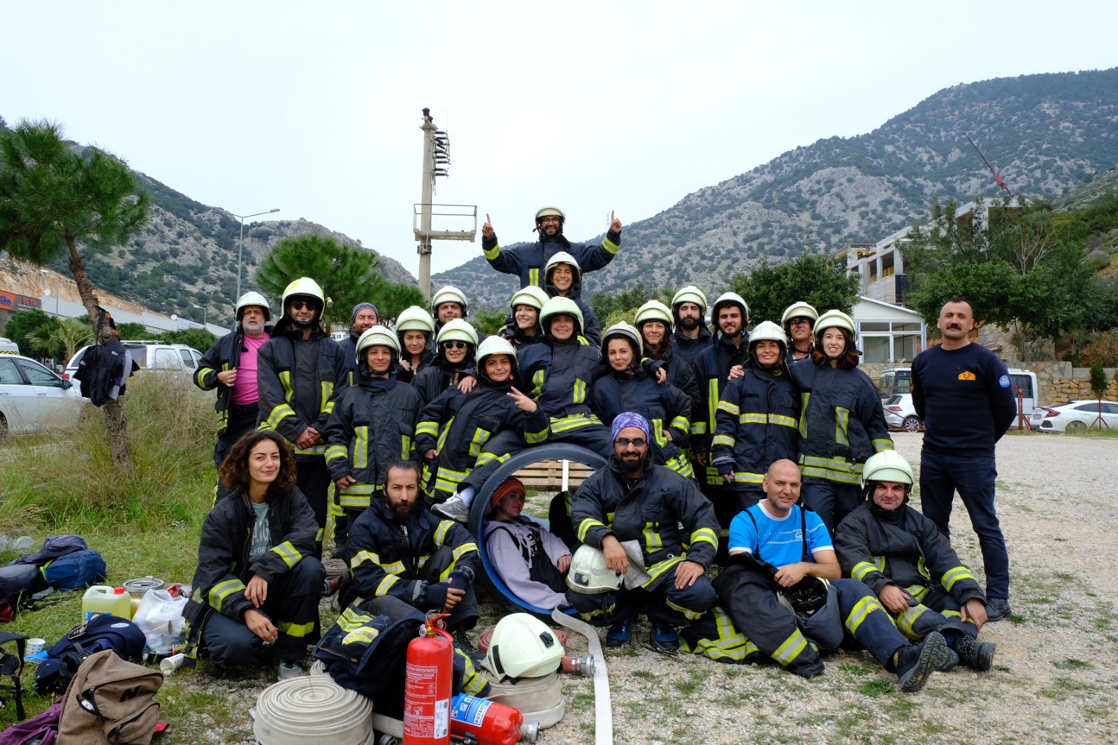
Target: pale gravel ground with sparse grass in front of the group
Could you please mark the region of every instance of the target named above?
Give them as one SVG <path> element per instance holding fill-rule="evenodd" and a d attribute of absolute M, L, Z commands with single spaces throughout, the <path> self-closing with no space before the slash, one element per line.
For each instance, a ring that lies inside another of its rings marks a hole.
<path fill-rule="evenodd" d="M 921 438 L 894 434 L 913 463 Z M 982 638 L 998 645 L 994 670 L 936 673 L 921 692 L 906 695 L 868 653 L 854 652 L 828 658 L 826 675 L 806 681 L 767 664 L 660 654 L 647 648 L 642 619 L 641 643 L 607 652 L 614 742 L 1118 742 L 1116 456 L 1116 440 L 1011 435 L 998 445 L 1013 615 L 983 630 Z M 956 549 L 982 579 L 977 541 L 958 500 L 953 526 Z M 483 613 L 479 631 L 500 615 L 493 604 Z M 570 634 L 569 651 L 585 653 L 586 640 Z M 243 722 L 218 728 L 202 708 L 198 722 L 180 723 L 180 734 L 201 725 L 209 742 L 255 742 L 246 739 L 247 707 L 264 681 L 199 672 L 169 683 L 167 696 L 209 701 L 226 713 L 216 717 L 225 725 Z M 563 720 L 539 742 L 594 742 L 590 679 L 565 677 L 563 694 Z"/>

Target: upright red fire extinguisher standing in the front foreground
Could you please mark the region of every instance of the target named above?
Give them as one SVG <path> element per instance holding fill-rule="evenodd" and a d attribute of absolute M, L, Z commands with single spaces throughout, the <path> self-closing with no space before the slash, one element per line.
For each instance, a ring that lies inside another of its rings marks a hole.
<path fill-rule="evenodd" d="M 451 634 L 435 626 L 436 622 L 448 615 L 444 613 L 428 619 L 423 634 L 408 644 L 404 685 L 404 745 L 451 743 L 454 643 Z"/>

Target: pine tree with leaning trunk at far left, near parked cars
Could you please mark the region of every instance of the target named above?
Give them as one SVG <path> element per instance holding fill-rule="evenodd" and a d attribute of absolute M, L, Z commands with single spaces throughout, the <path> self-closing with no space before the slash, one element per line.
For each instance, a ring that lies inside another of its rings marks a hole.
<path fill-rule="evenodd" d="M 148 220 L 148 197 L 129 167 L 98 148 L 72 150 L 58 124 L 20 122 L 0 133 L 0 248 L 47 264 L 68 254 L 82 304 L 97 318 L 98 301 L 85 271 L 87 252 L 127 244 Z M 105 324 L 101 341 L 113 336 Z M 113 459 L 131 456 L 120 400 L 104 405 Z"/>

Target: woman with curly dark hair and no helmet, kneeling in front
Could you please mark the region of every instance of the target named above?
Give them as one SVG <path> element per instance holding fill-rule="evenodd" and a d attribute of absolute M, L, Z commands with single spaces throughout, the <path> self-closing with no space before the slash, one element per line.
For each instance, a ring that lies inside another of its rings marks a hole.
<path fill-rule="evenodd" d="M 306 647 L 318 641 L 326 570 L 314 557 L 319 526 L 295 485 L 291 446 L 273 431 L 250 432 L 230 449 L 219 475 L 231 493 L 202 525 L 183 611 L 187 666 L 199 645 L 211 663 L 239 668 L 272 644 L 280 679 L 301 676 Z"/>

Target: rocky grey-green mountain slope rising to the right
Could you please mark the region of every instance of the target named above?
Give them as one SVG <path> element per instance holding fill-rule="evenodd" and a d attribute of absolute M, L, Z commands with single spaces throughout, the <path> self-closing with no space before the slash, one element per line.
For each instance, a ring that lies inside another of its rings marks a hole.
<path fill-rule="evenodd" d="M 875 242 L 922 219 L 932 198 L 996 196 L 965 134 L 1015 194 L 1059 196 L 1118 164 L 1118 68 L 956 85 L 868 134 L 788 151 L 626 226 L 620 254 L 588 276 L 586 291 L 636 281 L 717 291 L 765 257 Z M 480 255 L 434 280 L 493 307 L 515 286 Z"/>

